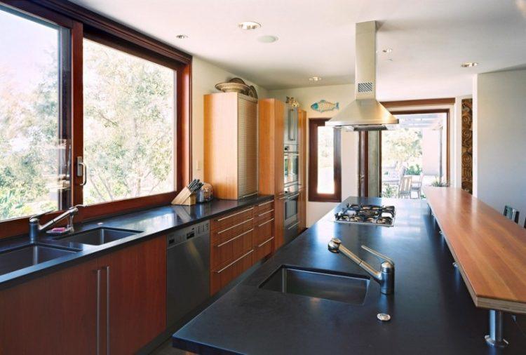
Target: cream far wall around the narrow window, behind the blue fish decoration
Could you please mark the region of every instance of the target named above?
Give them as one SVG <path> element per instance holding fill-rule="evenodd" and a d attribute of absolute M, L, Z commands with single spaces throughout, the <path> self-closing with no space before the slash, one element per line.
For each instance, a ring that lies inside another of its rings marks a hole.
<path fill-rule="evenodd" d="M 306 88 L 292 88 L 285 90 L 270 91 L 270 96 L 278 100 L 285 101 L 287 96 L 296 98 L 302 109 L 306 111 L 307 119 L 332 117 L 337 112 L 318 112 L 311 109 L 314 102 L 325 99 L 329 102 L 339 102 L 339 108 L 342 109 L 348 105 L 354 98 L 354 85 L 334 85 L 334 86 L 316 86 Z M 307 128 L 307 141 L 309 133 Z M 307 145 L 307 150 L 309 146 Z M 309 156 L 309 152 L 307 152 Z M 309 164 L 307 163 L 307 169 Z M 309 173 L 307 173 L 307 179 Z M 309 182 L 307 181 L 307 185 Z M 342 130 L 342 199 L 348 196 L 358 196 L 358 133 L 345 132 Z M 313 225 L 318 219 L 323 217 L 337 203 L 332 202 L 310 202 L 306 204 L 306 223 L 307 227 Z"/>

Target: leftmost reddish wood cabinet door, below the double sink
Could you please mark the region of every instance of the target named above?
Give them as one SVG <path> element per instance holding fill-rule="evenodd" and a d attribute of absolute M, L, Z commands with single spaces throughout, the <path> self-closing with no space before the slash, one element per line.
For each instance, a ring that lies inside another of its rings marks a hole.
<path fill-rule="evenodd" d="M 0 354 L 96 354 L 97 261 L 0 291 Z"/>

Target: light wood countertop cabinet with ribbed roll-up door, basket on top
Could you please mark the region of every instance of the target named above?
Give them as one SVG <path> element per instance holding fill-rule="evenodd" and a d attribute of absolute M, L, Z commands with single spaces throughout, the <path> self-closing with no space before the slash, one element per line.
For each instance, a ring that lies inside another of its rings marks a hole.
<path fill-rule="evenodd" d="M 204 97 L 204 177 L 220 199 L 257 194 L 257 99 L 240 93 Z"/>

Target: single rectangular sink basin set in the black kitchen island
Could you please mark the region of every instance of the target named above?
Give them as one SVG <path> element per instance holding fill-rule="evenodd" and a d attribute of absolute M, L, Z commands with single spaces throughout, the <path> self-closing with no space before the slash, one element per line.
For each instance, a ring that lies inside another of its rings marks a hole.
<path fill-rule="evenodd" d="M 367 276 L 333 274 L 325 270 L 304 270 L 282 266 L 259 288 L 350 304 L 363 304 L 368 286 Z"/>

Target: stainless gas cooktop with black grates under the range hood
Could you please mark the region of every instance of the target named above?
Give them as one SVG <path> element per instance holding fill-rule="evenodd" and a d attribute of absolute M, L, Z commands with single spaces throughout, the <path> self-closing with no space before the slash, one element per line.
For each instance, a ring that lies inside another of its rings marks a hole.
<path fill-rule="evenodd" d="M 395 218 L 394 206 L 358 205 L 347 203 L 338 213 L 335 222 L 354 225 L 381 225 L 393 227 Z"/>

